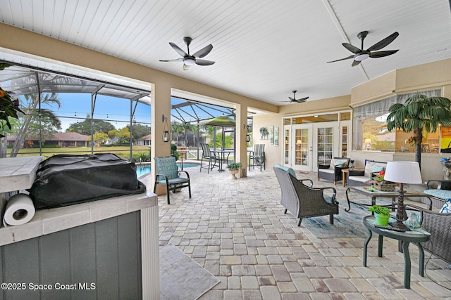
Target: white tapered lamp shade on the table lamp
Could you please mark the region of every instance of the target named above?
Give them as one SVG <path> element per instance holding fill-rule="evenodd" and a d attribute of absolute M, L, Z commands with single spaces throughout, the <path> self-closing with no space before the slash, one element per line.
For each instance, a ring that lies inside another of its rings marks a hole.
<path fill-rule="evenodd" d="M 384 180 L 398 183 L 422 183 L 419 164 L 418 162 L 387 162 Z"/>

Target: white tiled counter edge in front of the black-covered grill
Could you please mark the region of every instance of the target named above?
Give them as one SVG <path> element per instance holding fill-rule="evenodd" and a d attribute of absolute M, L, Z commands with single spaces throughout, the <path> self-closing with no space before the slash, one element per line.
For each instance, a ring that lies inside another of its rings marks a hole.
<path fill-rule="evenodd" d="M 155 206 L 158 206 L 158 196 L 147 191 L 138 195 L 38 210 L 28 223 L 0 228 L 0 246 Z"/>

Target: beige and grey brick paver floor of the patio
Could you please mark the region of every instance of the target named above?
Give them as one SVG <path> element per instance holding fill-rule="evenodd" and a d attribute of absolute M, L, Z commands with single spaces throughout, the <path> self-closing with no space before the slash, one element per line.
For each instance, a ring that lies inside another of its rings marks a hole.
<path fill-rule="evenodd" d="M 186 170 L 192 178 L 192 198 L 181 191 L 171 195 L 168 205 L 161 196 L 159 244 L 174 244 L 221 280 L 200 299 L 449 298 L 449 290 L 440 286 L 451 287 L 448 263 L 425 252 L 426 275 L 419 276 L 419 252 L 414 245 L 410 247 L 412 285 L 405 289 L 404 259 L 396 240 L 384 239 L 379 258 L 377 238 L 373 238 L 365 268 L 364 235 L 342 233 L 339 237 L 340 233 L 323 229 L 325 235 L 317 237 L 305 220 L 297 227 L 297 220 L 284 214 L 280 205 L 272 168 L 249 171 L 247 178 L 239 180 L 227 173 L 201 173 L 197 167 Z M 297 173 L 297 177 L 311 178 L 315 187 L 331 185 L 316 181 L 316 172 Z M 151 182 L 149 176 L 142 181 Z M 345 188 L 334 188 L 340 202 L 338 216 L 353 216 L 358 211 L 354 204 L 349 213 L 344 210 Z M 328 223 L 327 216 L 310 221 L 321 219 Z M 360 219 L 357 224 L 362 228 L 355 229 L 365 229 Z M 333 226 L 340 226 L 340 221 Z"/>

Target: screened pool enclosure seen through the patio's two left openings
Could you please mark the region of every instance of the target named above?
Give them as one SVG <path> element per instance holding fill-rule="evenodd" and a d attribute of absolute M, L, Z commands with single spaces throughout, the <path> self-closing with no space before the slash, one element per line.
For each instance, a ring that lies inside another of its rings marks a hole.
<path fill-rule="evenodd" d="M 0 87 L 25 113 L 9 118 L 11 129 L 0 127 L 0 157 L 113 152 L 150 159 L 150 84 L 30 58 L 0 63 Z M 199 143 L 235 148 L 234 128 L 199 126 L 220 115 L 235 119 L 233 108 L 177 95 L 171 105 L 171 143 L 189 148 L 187 159 L 199 157 Z"/>

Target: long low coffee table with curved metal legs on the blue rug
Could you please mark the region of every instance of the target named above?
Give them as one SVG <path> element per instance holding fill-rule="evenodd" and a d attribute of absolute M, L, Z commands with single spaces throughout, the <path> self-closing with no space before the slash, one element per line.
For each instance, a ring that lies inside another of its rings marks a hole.
<path fill-rule="evenodd" d="M 367 197 L 371 197 L 371 204 L 365 204 L 362 202 L 354 202 L 350 200 L 349 193 L 350 192 L 357 192 L 362 195 L 365 195 Z M 396 199 L 400 195 L 397 190 L 393 190 L 391 192 L 384 192 L 382 190 L 376 190 L 376 188 L 371 188 L 370 186 L 350 186 L 346 190 L 346 200 L 347 200 L 347 209 L 345 209 L 346 212 L 351 210 L 351 203 L 359 205 L 361 207 L 371 207 L 373 205 L 376 205 L 376 199 L 380 197 L 388 197 L 392 199 L 392 203 L 388 205 L 381 205 L 385 207 L 391 207 L 392 211 L 395 211 L 396 207 Z M 432 200 L 431 195 L 416 191 L 416 190 L 405 190 L 404 197 L 426 197 L 429 200 L 428 209 L 432 209 Z"/>

